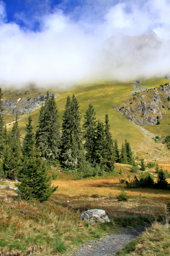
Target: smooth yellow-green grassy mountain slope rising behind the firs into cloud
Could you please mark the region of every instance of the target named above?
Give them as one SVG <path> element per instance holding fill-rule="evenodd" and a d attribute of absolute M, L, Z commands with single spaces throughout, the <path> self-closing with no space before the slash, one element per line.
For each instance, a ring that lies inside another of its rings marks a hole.
<path fill-rule="evenodd" d="M 152 88 L 155 86 L 160 86 L 160 84 L 164 84 L 167 81 L 168 80 L 165 78 L 152 78 L 146 81 L 142 80 L 142 86 Z M 141 144 L 142 142 L 144 142 L 146 139 L 145 136 L 139 129 L 136 129 L 138 127 L 135 127 L 135 124 L 128 121 L 121 113 L 113 109 L 114 105 L 116 104 L 118 105 L 123 100 L 128 99 L 129 98 L 128 95 L 131 93 L 133 89 L 134 89 L 134 84 L 132 81 L 124 82 L 124 83 L 118 82 L 118 81 L 116 82 L 103 81 L 95 84 L 84 84 L 81 86 L 76 86 L 73 88 L 69 88 L 66 91 L 63 91 L 57 88 L 49 89 L 49 91 L 60 94 L 60 97 L 56 99 L 56 103 L 59 109 L 60 123 L 62 123 L 62 115 L 63 115 L 64 105 L 66 103 L 67 95 L 72 96 L 72 94 L 75 94 L 80 104 L 80 112 L 82 113 L 82 119 L 83 119 L 83 114 L 85 113 L 85 110 L 88 108 L 88 104 L 91 102 L 91 104 L 93 104 L 95 108 L 97 119 L 100 118 L 104 121 L 104 116 L 106 113 L 108 113 L 113 139 L 117 138 L 119 145 L 121 145 L 122 142 L 125 140 L 125 138 L 127 138 L 131 143 L 133 150 L 134 151 L 137 150 L 137 152 L 139 153 L 141 149 L 138 147 L 137 144 Z M 24 89 L 24 90 L 26 91 L 27 89 Z M 45 92 L 45 89 L 40 89 L 39 91 L 39 93 L 44 93 L 44 92 Z M 35 90 L 35 94 L 37 93 L 38 91 Z M 6 96 L 9 97 L 10 95 L 4 94 L 4 98 L 6 98 Z M 20 97 L 24 97 L 24 95 Z M 37 125 L 38 125 L 39 110 L 40 109 L 37 109 L 31 113 L 32 119 L 33 119 L 34 131 L 37 129 Z M 170 126 L 167 124 L 168 118 L 169 117 L 167 114 L 161 120 L 162 128 L 160 129 L 159 127 L 159 133 L 156 131 L 155 125 L 148 125 L 148 126 L 145 126 L 144 128 L 154 132 L 155 134 L 158 133 L 160 135 L 165 136 L 168 133 L 168 128 L 170 128 Z M 28 115 L 24 116 L 22 119 L 19 120 L 19 127 L 20 127 L 20 132 L 22 137 L 25 134 L 24 127 L 25 127 L 25 123 L 27 123 L 27 120 L 28 120 Z M 9 125 L 8 129 L 11 129 L 11 127 L 12 125 Z M 158 126 L 157 126 L 157 129 L 158 129 Z"/>

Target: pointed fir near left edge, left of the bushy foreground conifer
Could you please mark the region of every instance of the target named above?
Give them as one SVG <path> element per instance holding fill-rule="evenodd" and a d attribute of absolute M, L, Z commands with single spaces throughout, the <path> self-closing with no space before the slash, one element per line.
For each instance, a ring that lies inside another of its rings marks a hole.
<path fill-rule="evenodd" d="M 11 179 L 17 178 L 18 170 L 21 167 L 21 143 L 18 127 L 18 116 L 12 126 L 11 132 L 7 134 L 6 145 L 3 150 L 3 169 Z"/>

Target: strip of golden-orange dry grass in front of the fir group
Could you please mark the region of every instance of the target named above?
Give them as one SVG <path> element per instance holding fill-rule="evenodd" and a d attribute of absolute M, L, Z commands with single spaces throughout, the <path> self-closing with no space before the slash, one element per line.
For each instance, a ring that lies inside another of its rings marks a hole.
<path fill-rule="evenodd" d="M 98 194 L 112 196 L 120 193 L 120 189 L 125 187 L 125 190 L 130 196 L 142 196 L 147 198 L 166 198 L 169 199 L 170 191 L 162 189 L 146 189 L 146 188 L 127 188 L 126 184 L 119 182 L 119 178 L 113 179 L 82 179 L 82 180 L 54 180 L 53 185 L 59 186 L 56 194 L 81 196 Z"/>

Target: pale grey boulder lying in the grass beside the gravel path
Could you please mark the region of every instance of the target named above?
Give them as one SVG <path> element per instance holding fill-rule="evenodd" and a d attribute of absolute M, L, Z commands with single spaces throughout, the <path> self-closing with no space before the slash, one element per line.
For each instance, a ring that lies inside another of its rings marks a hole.
<path fill-rule="evenodd" d="M 100 209 L 87 210 L 80 216 L 82 220 L 89 221 L 90 224 L 94 224 L 97 221 L 104 223 L 105 221 L 110 222 L 106 212 Z"/>

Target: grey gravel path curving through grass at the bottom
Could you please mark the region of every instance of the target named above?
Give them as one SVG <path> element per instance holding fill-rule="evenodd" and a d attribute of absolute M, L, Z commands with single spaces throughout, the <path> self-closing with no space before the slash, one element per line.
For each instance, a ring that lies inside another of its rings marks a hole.
<path fill-rule="evenodd" d="M 139 233 L 143 232 L 145 228 L 141 229 L 122 229 L 117 234 L 107 235 L 102 237 L 99 241 L 90 240 L 89 244 L 82 244 L 80 248 L 74 251 L 73 254 L 67 254 L 67 256 L 112 256 L 116 252 L 123 249 L 132 239 L 139 236 Z M 64 255 L 66 256 L 66 255 Z"/>

